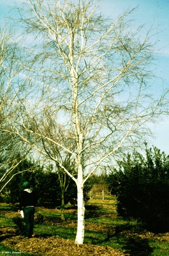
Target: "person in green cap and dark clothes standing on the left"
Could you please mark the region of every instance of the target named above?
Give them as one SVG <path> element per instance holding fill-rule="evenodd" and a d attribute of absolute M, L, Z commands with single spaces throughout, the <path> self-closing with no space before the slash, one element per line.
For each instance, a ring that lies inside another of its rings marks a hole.
<path fill-rule="evenodd" d="M 31 238 L 33 236 L 33 224 L 34 224 L 34 206 L 36 205 L 36 195 L 31 189 L 29 182 L 23 183 L 24 190 L 20 195 L 19 210 L 24 212 L 24 221 L 26 223 L 26 237 Z"/>

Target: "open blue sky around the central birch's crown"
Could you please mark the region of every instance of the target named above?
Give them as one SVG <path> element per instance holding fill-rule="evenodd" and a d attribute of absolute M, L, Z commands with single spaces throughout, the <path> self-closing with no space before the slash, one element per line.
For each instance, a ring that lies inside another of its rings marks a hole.
<path fill-rule="evenodd" d="M 0 0 L 1 23 L 10 14 L 10 8 L 22 4 L 26 0 Z M 154 92 L 159 94 L 163 89 L 169 88 L 169 0 L 100 0 L 100 10 L 104 15 L 114 19 L 124 13 L 125 10 L 136 10 L 131 14 L 135 25 L 145 24 L 144 31 L 152 26 L 152 42 L 156 42 L 154 56 L 156 58 L 156 75 L 163 79 L 157 79 L 154 84 Z M 18 33 L 18 31 L 17 31 Z M 151 125 L 156 138 L 150 140 L 154 145 L 169 154 L 169 116 L 163 122 Z"/>

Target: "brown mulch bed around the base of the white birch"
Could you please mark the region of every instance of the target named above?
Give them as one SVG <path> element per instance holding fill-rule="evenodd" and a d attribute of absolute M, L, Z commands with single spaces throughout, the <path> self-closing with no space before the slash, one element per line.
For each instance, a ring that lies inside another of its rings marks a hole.
<path fill-rule="evenodd" d="M 53 237 L 32 237 L 26 239 L 20 236 L 5 239 L 3 244 L 23 253 L 37 253 L 49 256 L 78 256 L 78 255 L 126 255 L 122 251 L 114 250 L 108 246 L 96 246 L 94 244 L 82 244 L 77 246 L 70 239 Z"/>

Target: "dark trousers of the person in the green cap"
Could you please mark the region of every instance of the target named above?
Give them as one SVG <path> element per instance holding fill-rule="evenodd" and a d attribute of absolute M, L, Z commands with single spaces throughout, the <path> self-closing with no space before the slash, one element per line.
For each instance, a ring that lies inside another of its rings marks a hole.
<path fill-rule="evenodd" d="M 24 208 L 24 221 L 26 223 L 26 236 L 33 236 L 34 207 L 27 206 Z"/>

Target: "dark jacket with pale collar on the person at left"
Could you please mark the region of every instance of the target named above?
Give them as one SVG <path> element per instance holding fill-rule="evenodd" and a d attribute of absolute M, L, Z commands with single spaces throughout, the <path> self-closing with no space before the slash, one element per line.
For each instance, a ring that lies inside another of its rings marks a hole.
<path fill-rule="evenodd" d="M 31 189 L 24 189 L 20 195 L 20 204 L 19 209 L 26 206 L 35 206 L 36 205 L 36 195 Z"/>

